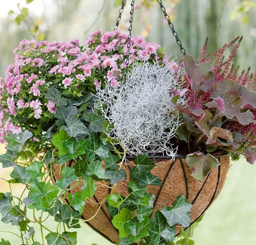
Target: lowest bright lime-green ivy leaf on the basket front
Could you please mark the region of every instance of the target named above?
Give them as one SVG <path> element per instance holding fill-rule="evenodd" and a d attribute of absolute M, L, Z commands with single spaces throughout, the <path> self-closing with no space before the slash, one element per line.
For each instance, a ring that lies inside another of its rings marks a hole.
<path fill-rule="evenodd" d="M 113 226 L 119 230 L 119 237 L 124 238 L 129 236 L 129 232 L 124 227 L 125 223 L 132 219 L 132 215 L 128 209 L 123 208 L 119 214 L 112 219 Z"/>

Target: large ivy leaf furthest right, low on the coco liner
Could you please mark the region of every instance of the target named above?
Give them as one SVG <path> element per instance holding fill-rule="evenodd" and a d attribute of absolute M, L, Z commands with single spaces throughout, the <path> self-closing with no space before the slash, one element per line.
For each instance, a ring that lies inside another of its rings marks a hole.
<path fill-rule="evenodd" d="M 191 208 L 191 203 L 181 194 L 176 198 L 172 208 L 164 207 L 162 209 L 162 214 L 166 217 L 169 226 L 180 224 L 188 227 L 190 225 L 189 212 Z"/>

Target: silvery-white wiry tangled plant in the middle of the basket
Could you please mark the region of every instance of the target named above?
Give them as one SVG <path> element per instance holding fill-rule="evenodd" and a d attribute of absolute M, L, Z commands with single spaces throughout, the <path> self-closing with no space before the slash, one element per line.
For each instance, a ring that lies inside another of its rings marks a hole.
<path fill-rule="evenodd" d="M 118 139 L 129 154 L 175 156 L 177 147 L 170 140 L 180 118 L 169 91 L 181 89 L 179 75 L 158 63 L 134 64 L 118 88 L 106 82 L 105 89 L 96 93 L 97 109 L 113 124 L 109 136 Z M 178 103 L 185 99 L 180 97 Z"/>

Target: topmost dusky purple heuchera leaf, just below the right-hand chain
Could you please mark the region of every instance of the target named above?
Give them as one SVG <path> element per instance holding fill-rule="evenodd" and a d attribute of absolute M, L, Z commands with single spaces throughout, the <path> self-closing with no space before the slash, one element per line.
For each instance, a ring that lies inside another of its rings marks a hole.
<path fill-rule="evenodd" d="M 181 60 L 184 63 L 185 71 L 188 78 L 191 78 L 189 82 L 192 85 L 193 90 L 210 91 L 215 85 L 215 77 L 212 72 L 212 65 L 209 62 L 203 62 L 196 64 L 192 55 L 186 54 Z"/>

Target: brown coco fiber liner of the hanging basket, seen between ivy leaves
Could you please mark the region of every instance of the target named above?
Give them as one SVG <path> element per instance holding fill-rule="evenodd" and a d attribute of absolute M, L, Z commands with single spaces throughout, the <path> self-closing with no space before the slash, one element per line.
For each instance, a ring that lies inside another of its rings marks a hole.
<path fill-rule="evenodd" d="M 181 193 L 193 205 L 190 211 L 191 224 L 193 224 L 207 208 L 212 204 L 216 197 L 221 192 L 221 189 L 226 180 L 227 172 L 229 169 L 229 156 L 216 156 L 221 163 L 218 167 L 212 169 L 210 173 L 204 177 L 202 183 L 191 176 L 191 169 L 187 165 L 184 156 L 178 156 L 175 160 L 167 158 L 151 158 L 156 166 L 151 170 L 151 173 L 158 176 L 162 181 L 162 186 L 149 186 L 148 192 L 155 195 L 154 210 L 161 210 L 165 206 L 172 206 L 176 197 Z M 102 162 L 104 165 L 104 163 Z M 71 166 L 73 164 L 70 164 Z M 134 166 L 133 161 L 129 161 L 128 165 L 124 165 L 123 169 L 126 170 L 126 181 L 117 182 L 115 192 L 121 195 L 128 195 L 127 183 L 129 181 L 130 168 Z M 58 169 L 58 165 L 53 166 L 53 171 Z M 53 176 L 53 182 L 59 179 L 57 172 Z M 105 181 L 102 183 L 110 185 Z M 100 202 L 104 197 L 109 195 L 109 188 L 97 184 L 97 191 L 93 197 L 92 202 L 87 201 L 82 214 L 83 219 L 89 219 L 95 215 Z M 71 190 L 73 194 L 79 191 L 81 185 L 76 186 Z M 112 217 L 109 214 L 105 204 L 100 208 L 97 216 L 91 219 L 87 224 L 96 232 L 104 236 L 110 242 L 119 242 L 118 231 L 111 223 Z M 181 230 L 182 226 L 176 226 L 176 234 Z"/>

